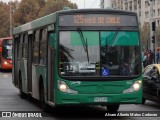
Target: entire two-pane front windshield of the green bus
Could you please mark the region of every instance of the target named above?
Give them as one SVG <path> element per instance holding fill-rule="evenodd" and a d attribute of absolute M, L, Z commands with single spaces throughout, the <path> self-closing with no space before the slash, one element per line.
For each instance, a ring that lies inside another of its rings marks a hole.
<path fill-rule="evenodd" d="M 59 32 L 59 72 L 62 76 L 119 77 L 140 74 L 137 31 Z"/>

